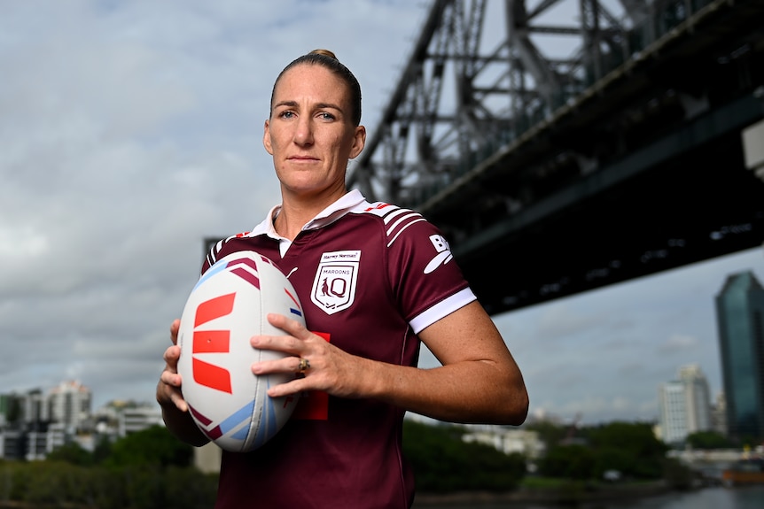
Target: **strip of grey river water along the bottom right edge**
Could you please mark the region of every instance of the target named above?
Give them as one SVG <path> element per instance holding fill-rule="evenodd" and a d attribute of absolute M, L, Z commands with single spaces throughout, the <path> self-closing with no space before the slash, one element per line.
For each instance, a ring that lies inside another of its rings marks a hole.
<path fill-rule="evenodd" d="M 761 509 L 764 485 L 705 488 L 686 493 L 645 497 L 632 502 L 592 502 L 579 505 L 538 505 L 520 502 L 417 505 L 415 509 Z"/>

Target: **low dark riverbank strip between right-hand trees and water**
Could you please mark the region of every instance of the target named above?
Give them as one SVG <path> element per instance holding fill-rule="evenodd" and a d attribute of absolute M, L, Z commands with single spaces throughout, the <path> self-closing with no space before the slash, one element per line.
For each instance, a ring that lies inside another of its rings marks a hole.
<path fill-rule="evenodd" d="M 507 492 L 469 491 L 448 494 L 417 493 L 414 507 L 441 507 L 448 505 L 502 504 L 502 505 L 573 505 L 581 503 L 611 502 L 625 499 L 657 497 L 672 491 L 665 482 L 639 484 L 570 486 L 557 489 L 519 488 Z"/>

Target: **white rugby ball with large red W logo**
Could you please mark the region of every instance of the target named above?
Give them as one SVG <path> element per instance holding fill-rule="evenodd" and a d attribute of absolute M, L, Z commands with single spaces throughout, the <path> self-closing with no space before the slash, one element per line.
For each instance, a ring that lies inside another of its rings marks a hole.
<path fill-rule="evenodd" d="M 274 263 L 254 251 L 219 259 L 191 290 L 181 315 L 178 373 L 183 398 L 199 429 L 226 451 L 253 451 L 289 420 L 298 396 L 269 397 L 274 384 L 295 374 L 257 376 L 253 362 L 286 354 L 254 349 L 253 335 L 283 335 L 269 312 L 303 325 L 292 283 Z"/>

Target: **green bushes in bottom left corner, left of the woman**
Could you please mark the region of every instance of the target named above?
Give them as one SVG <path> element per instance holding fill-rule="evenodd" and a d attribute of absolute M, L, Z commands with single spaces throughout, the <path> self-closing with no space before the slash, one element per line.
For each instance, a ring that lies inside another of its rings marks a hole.
<path fill-rule="evenodd" d="M 191 467 L 193 449 L 155 426 L 95 451 L 77 443 L 44 461 L 0 462 L 0 506 L 208 509 L 217 478 Z"/>

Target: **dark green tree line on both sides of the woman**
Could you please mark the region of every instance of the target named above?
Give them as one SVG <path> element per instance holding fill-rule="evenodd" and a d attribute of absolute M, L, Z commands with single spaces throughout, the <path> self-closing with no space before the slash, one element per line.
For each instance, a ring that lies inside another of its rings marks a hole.
<path fill-rule="evenodd" d="M 569 430 L 550 423 L 528 425 L 546 445 L 534 459 L 534 477 L 602 482 L 615 470 L 634 481 L 667 479 L 682 487 L 685 468 L 666 459 L 667 446 L 647 424 L 614 422 Z M 403 452 L 417 479 L 417 491 L 516 490 L 526 482 L 531 461 L 518 453 L 463 440 L 466 428 L 405 420 Z M 713 442 L 699 436 L 698 442 Z M 717 442 L 713 442 L 717 443 Z M 214 505 L 216 474 L 193 467 L 193 448 L 155 426 L 104 440 L 94 451 L 68 443 L 43 461 L 0 461 L 0 507 L 22 503 L 35 508 L 76 509 L 209 508 Z"/>

